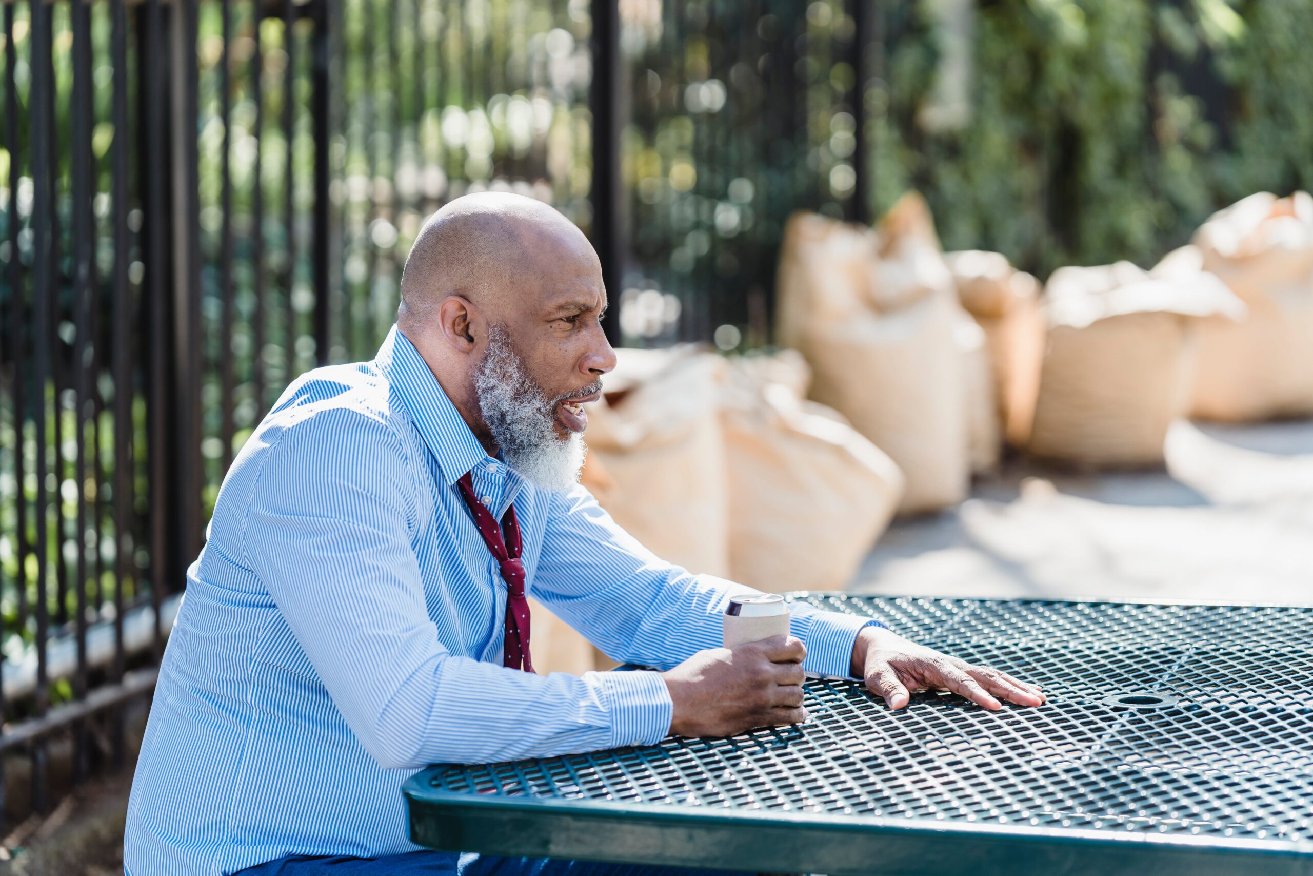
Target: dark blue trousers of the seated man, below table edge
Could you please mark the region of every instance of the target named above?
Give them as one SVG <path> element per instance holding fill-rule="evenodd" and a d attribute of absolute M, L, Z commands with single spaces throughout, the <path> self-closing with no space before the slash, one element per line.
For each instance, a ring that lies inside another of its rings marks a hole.
<path fill-rule="evenodd" d="M 465 852 L 453 855 L 439 851 L 412 851 L 386 858 L 306 858 L 291 856 L 270 860 L 243 869 L 238 876 L 411 876 L 442 873 L 444 876 L 747 876 L 726 871 L 685 869 L 683 867 L 649 867 L 646 864 L 596 864 L 584 860 L 546 860 L 533 858 L 491 858 Z"/>

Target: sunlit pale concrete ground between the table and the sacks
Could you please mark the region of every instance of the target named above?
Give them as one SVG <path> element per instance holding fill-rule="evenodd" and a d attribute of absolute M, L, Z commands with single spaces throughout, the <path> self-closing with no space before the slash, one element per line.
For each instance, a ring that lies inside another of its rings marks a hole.
<path fill-rule="evenodd" d="M 1179 423 L 1157 471 L 1024 460 L 899 520 L 856 592 L 1313 603 L 1313 420 Z"/>

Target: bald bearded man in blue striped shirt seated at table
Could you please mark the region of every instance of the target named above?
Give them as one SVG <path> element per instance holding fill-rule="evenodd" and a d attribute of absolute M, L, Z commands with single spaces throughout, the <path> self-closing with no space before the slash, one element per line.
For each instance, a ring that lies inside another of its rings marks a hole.
<path fill-rule="evenodd" d="M 616 362 L 605 310 L 597 257 L 561 214 L 467 196 L 420 231 L 374 360 L 288 386 L 188 570 L 133 781 L 130 876 L 649 875 L 423 851 L 402 783 L 436 762 L 800 722 L 805 670 L 865 678 L 895 709 L 920 687 L 1043 703 L 807 607 L 789 637 L 717 647 L 726 602 L 752 591 L 663 562 L 576 485 L 583 406 Z M 656 670 L 534 674 L 527 594 Z"/>

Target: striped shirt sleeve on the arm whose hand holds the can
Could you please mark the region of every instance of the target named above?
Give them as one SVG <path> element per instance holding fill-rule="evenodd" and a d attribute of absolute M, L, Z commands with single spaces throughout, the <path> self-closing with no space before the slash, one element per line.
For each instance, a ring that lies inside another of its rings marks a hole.
<path fill-rule="evenodd" d="M 442 646 L 411 541 L 418 486 L 386 423 L 330 410 L 270 441 L 246 561 L 383 768 L 653 743 L 670 732 L 655 672 L 541 676 Z"/>

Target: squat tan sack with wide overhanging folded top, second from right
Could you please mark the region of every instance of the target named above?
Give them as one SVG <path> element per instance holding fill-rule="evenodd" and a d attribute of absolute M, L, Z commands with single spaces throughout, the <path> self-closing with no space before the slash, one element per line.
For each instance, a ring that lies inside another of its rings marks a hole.
<path fill-rule="evenodd" d="M 1150 276 L 1128 261 L 1061 268 L 1046 286 L 1048 338 L 1029 452 L 1100 466 L 1162 462 L 1188 405 L 1194 319 L 1241 307 L 1205 273 Z"/>

